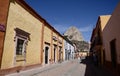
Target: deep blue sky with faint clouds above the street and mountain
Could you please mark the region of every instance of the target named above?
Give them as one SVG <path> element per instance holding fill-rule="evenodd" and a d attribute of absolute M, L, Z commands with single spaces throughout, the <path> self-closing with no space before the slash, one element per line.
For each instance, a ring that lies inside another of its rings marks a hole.
<path fill-rule="evenodd" d="M 25 0 L 40 16 L 63 34 L 77 27 L 90 41 L 98 16 L 112 14 L 119 0 Z"/>

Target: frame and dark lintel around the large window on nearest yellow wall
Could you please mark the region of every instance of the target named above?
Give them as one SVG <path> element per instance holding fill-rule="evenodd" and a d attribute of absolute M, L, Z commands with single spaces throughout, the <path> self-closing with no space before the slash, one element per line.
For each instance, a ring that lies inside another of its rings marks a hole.
<path fill-rule="evenodd" d="M 13 61 L 13 66 L 16 66 L 16 63 L 17 62 L 20 62 L 20 61 L 24 61 L 23 62 L 23 65 L 25 65 L 26 63 L 26 46 L 27 46 L 27 43 L 28 41 L 30 40 L 30 33 L 28 32 L 25 32 L 24 30 L 21 30 L 19 28 L 15 28 L 14 29 L 14 32 L 15 32 L 15 37 L 14 37 L 14 41 L 15 41 L 15 50 L 14 50 L 14 61 Z M 17 41 L 18 39 L 21 39 L 24 41 L 23 43 L 23 48 L 22 48 L 22 56 L 24 57 L 22 60 L 17 60 L 17 55 L 16 55 L 16 48 L 17 48 Z"/>

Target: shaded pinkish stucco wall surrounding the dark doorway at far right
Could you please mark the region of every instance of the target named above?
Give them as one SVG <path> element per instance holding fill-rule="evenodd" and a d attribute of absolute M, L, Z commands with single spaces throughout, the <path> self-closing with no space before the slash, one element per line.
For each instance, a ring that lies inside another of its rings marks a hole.
<path fill-rule="evenodd" d="M 120 64 L 120 3 L 113 12 L 109 22 L 103 30 L 106 60 L 111 61 L 110 41 L 116 39 L 117 62 Z"/>

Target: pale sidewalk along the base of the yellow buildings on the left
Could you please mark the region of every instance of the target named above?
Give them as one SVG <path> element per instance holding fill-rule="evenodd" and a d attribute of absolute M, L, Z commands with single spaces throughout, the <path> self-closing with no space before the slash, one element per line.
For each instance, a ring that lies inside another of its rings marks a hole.
<path fill-rule="evenodd" d="M 66 64 L 70 61 L 64 61 L 62 63 L 55 63 L 55 64 L 47 64 L 47 65 L 44 65 L 42 67 L 33 68 L 33 69 L 30 69 L 30 70 L 25 70 L 25 71 L 20 71 L 18 73 L 8 74 L 8 75 L 5 75 L 5 76 L 33 76 L 34 74 L 43 73 L 43 72 L 46 72 L 50 69 L 60 67 L 61 64 Z"/>

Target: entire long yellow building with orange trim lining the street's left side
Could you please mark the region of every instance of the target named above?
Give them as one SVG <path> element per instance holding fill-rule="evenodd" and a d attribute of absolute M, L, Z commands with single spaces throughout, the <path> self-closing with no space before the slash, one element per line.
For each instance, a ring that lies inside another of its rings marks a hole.
<path fill-rule="evenodd" d="M 7 2 L 3 8 L 9 11 L 2 9 L 5 18 L 0 21 L 0 75 L 62 61 L 63 36 L 24 0 L 4 1 L 0 4 Z"/>

